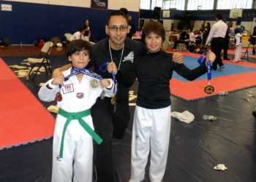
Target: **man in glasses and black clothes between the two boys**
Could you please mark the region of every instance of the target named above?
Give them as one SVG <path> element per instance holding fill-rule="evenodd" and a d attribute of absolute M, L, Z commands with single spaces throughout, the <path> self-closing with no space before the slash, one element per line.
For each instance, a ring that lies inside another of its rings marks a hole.
<path fill-rule="evenodd" d="M 111 74 L 102 71 L 99 67 L 106 62 L 113 61 L 123 74 L 132 72 L 132 63 L 135 58 L 146 51 L 140 41 L 127 39 L 128 22 L 127 17 L 121 11 L 110 12 L 108 23 L 105 25 L 107 38 L 98 41 L 91 47 L 91 66 L 94 72 L 103 78 L 111 78 Z M 183 63 L 180 53 L 173 55 L 178 63 Z M 53 71 L 53 77 L 60 74 L 61 68 Z M 94 122 L 94 129 L 103 139 L 100 145 L 96 146 L 95 153 L 95 175 L 99 182 L 113 182 L 112 166 L 112 139 L 123 138 L 124 131 L 129 122 L 129 87 L 134 80 L 123 84 L 117 82 L 116 102 L 111 105 L 111 98 L 97 99 L 91 108 L 91 116 Z M 116 110 L 114 109 L 116 108 Z"/>

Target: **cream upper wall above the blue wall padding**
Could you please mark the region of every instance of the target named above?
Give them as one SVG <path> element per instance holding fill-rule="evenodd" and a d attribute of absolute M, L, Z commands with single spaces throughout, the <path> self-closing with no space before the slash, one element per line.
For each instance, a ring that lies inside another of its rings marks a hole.
<path fill-rule="evenodd" d="M 2 1 L 18 1 L 18 2 L 25 2 L 25 3 L 53 4 L 53 5 L 70 6 L 70 7 L 91 7 L 91 0 L 2 0 Z M 128 9 L 128 11 L 131 11 L 131 12 L 139 12 L 140 0 L 108 0 L 108 9 L 120 9 L 121 7 L 125 7 Z"/>

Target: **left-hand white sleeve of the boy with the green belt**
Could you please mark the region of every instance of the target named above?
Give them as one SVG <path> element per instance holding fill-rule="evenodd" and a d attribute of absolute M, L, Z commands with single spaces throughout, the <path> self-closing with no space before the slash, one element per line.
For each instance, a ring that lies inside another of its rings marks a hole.
<path fill-rule="evenodd" d="M 40 88 L 38 92 L 39 99 L 45 102 L 50 102 L 55 100 L 56 93 L 59 92 L 59 85 L 51 84 L 53 79 L 50 79 Z"/>

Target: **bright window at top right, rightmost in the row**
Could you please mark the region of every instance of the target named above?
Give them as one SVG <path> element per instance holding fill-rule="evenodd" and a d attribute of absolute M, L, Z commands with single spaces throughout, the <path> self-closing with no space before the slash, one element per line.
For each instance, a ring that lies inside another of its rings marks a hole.
<path fill-rule="evenodd" d="M 218 0 L 217 9 L 252 9 L 252 0 Z"/>

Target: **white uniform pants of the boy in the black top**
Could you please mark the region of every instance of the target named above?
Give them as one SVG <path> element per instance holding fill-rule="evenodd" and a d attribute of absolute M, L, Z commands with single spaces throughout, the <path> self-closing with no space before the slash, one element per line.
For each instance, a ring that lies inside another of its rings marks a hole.
<path fill-rule="evenodd" d="M 170 106 L 167 108 L 135 108 L 132 128 L 132 182 L 143 181 L 151 147 L 149 178 L 162 181 L 165 174 L 170 138 Z"/>

